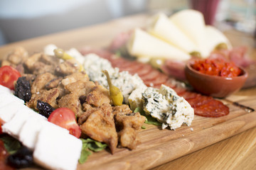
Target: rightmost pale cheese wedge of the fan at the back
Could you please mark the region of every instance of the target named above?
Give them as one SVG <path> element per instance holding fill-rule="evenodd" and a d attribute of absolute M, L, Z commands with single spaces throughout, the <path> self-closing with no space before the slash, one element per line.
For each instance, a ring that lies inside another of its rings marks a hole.
<path fill-rule="evenodd" d="M 220 30 L 213 26 L 206 26 L 205 30 L 206 37 L 203 43 L 203 57 L 208 57 L 210 55 L 210 52 L 214 50 L 216 45 L 222 42 L 228 45 L 228 49 L 232 48 L 232 45 L 228 38 L 226 38 L 225 35 Z"/>

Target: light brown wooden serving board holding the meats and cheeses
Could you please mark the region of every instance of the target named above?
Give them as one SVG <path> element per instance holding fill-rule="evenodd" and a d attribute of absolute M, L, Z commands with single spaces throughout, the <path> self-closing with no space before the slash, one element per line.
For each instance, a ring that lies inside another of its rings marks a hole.
<path fill-rule="evenodd" d="M 147 17 L 148 15 L 144 14 L 129 16 L 98 26 L 15 42 L 0 47 L 0 57 L 6 56 L 18 46 L 25 47 L 30 53 L 40 52 L 49 43 L 67 50 L 70 47 L 79 49 L 85 45 L 107 47 L 117 33 L 144 26 Z M 256 126 L 255 111 L 247 113 L 225 100 L 235 101 L 256 110 L 256 88 L 238 91 L 225 98 L 223 102 L 230 108 L 229 115 L 220 118 L 195 115 L 191 127 L 183 125 L 177 130 L 161 130 L 154 125 L 145 125 L 146 129 L 139 131 L 142 143 L 137 149 L 130 151 L 118 148 L 114 154 L 107 150 L 94 153 L 85 164 L 78 164 L 78 169 L 151 169 Z"/>

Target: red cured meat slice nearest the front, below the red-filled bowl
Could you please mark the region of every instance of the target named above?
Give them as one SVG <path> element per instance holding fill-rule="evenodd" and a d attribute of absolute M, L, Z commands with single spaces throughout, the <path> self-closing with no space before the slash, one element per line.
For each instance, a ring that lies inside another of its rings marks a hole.
<path fill-rule="evenodd" d="M 196 115 L 203 117 L 218 118 L 223 115 L 228 115 L 229 108 L 221 101 L 210 100 L 201 106 L 193 108 Z"/>

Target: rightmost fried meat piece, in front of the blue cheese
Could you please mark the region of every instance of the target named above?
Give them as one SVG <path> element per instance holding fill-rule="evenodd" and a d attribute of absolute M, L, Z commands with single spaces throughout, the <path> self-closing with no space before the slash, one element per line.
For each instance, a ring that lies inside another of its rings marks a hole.
<path fill-rule="evenodd" d="M 139 113 L 117 113 L 114 120 L 119 130 L 118 137 L 122 147 L 135 149 L 139 144 L 137 131 L 142 127 L 146 118 Z"/>

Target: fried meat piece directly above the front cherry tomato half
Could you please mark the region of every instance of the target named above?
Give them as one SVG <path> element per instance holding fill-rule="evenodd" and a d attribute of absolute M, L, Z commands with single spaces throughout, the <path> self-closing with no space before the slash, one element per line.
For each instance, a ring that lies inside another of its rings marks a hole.
<path fill-rule="evenodd" d="M 58 101 L 59 108 L 69 108 L 71 111 L 78 115 L 82 114 L 82 106 L 79 97 L 75 93 L 66 94 Z"/>

